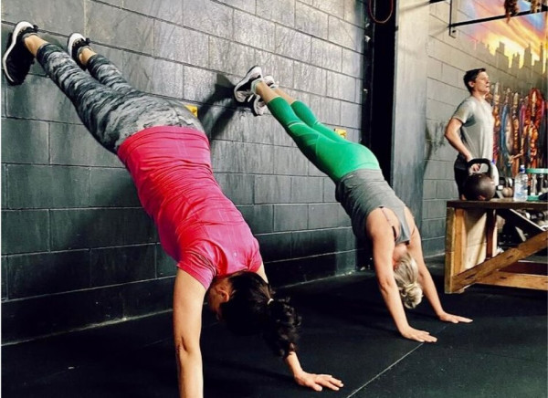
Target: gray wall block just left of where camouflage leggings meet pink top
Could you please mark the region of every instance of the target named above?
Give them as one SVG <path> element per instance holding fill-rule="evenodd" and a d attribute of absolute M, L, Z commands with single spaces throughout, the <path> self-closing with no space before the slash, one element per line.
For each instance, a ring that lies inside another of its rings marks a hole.
<path fill-rule="evenodd" d="M 49 127 L 49 157 L 52 164 L 123 167 L 118 157 L 78 124 L 52 123 Z"/>

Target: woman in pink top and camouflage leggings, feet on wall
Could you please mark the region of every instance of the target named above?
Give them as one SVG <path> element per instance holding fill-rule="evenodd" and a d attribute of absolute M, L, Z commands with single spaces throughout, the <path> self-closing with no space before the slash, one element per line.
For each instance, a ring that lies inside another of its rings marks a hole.
<path fill-rule="evenodd" d="M 180 396 L 203 396 L 199 341 L 205 296 L 230 330 L 261 333 L 300 385 L 338 390 L 342 382 L 331 375 L 300 367 L 295 353 L 300 318 L 287 300 L 273 298 L 258 242 L 213 176 L 199 120 L 177 101 L 133 89 L 89 44 L 72 34 L 68 55 L 38 37 L 37 26 L 19 22 L 3 57 L 5 78 L 12 85 L 23 83 L 37 58 L 91 134 L 132 174 L 142 206 L 179 268 L 174 345 Z"/>

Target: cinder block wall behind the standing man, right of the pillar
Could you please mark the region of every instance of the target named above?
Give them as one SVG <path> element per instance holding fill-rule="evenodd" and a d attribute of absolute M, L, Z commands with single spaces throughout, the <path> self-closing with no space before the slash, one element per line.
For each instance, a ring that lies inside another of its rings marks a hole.
<path fill-rule="evenodd" d="M 469 96 L 462 82 L 464 73 L 472 68 L 487 68 L 492 82 L 522 90 L 523 94 L 532 87 L 546 92 L 547 80 L 542 63 L 533 62 L 530 51 L 525 52 L 522 68 L 517 58 L 509 67 L 503 47 L 491 55 L 477 37 L 470 36 L 469 28 L 458 27 L 456 38 L 448 35 L 449 2 L 428 6 L 427 137 L 421 234 L 425 254 L 435 255 L 445 251 L 447 201 L 458 198 L 453 175 L 457 151 L 449 145 L 444 132 L 460 101 Z M 462 9 L 458 10 L 458 21 L 471 19 Z M 489 24 L 482 27 L 490 29 Z"/>

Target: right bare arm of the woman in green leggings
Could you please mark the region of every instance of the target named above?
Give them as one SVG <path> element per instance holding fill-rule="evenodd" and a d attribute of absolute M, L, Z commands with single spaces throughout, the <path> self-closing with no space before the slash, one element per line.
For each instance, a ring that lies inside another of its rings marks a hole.
<path fill-rule="evenodd" d="M 441 301 L 439 300 L 439 296 L 437 295 L 436 285 L 434 285 L 434 280 L 432 279 L 432 276 L 430 275 L 430 271 L 428 271 L 427 265 L 425 263 L 425 259 L 423 257 L 420 233 L 418 232 L 418 228 L 416 228 L 415 221 L 413 220 L 413 215 L 411 215 L 411 212 L 407 208 L 406 208 L 406 218 L 407 218 L 407 223 L 413 229 L 413 233 L 411 235 L 411 240 L 409 241 L 409 245 L 407 246 L 407 250 L 409 251 L 409 254 L 411 255 L 411 257 L 415 258 L 416 266 L 418 267 L 418 283 L 422 287 L 423 293 L 425 297 L 427 298 L 428 302 L 430 303 L 430 305 L 432 306 L 432 309 L 434 309 L 434 312 L 436 312 L 437 317 L 441 320 L 445 320 L 453 323 L 471 322 L 472 319 L 459 317 L 458 315 L 448 314 L 442 308 Z"/>

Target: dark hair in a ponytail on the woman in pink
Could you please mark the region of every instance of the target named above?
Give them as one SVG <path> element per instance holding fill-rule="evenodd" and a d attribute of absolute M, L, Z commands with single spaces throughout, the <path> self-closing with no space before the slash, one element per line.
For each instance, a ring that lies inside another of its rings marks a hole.
<path fill-rule="evenodd" d="M 276 355 L 287 357 L 297 348 L 300 316 L 289 299 L 271 299 L 269 284 L 254 272 L 237 273 L 230 299 L 221 304 L 222 319 L 238 335 L 260 333 Z"/>

